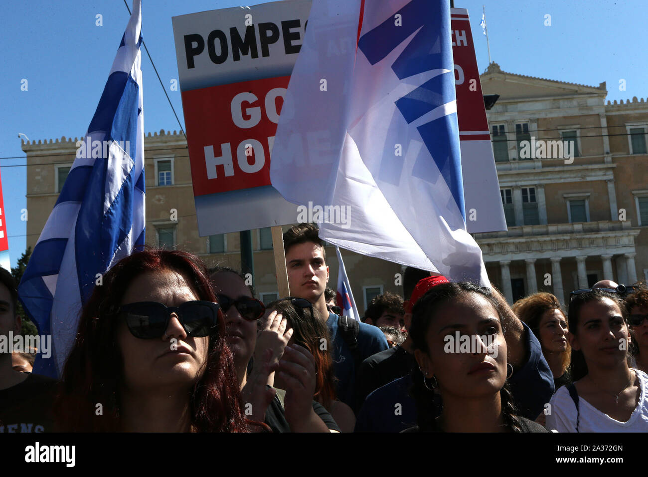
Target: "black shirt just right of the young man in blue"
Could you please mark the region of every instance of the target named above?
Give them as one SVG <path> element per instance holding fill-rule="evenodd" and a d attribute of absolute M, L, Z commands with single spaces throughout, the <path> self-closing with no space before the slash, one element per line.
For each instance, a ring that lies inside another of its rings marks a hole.
<path fill-rule="evenodd" d="M 406 376 L 415 363 L 414 356 L 400 346 L 373 354 L 362 361 L 358 372 L 356 413 L 369 393 L 395 379 Z"/>

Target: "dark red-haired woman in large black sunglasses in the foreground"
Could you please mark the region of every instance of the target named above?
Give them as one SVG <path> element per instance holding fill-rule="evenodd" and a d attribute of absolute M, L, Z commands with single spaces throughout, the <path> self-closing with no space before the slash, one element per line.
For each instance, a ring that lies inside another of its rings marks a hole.
<path fill-rule="evenodd" d="M 223 315 L 196 256 L 149 249 L 84 306 L 56 403 L 62 431 L 248 432 Z"/>

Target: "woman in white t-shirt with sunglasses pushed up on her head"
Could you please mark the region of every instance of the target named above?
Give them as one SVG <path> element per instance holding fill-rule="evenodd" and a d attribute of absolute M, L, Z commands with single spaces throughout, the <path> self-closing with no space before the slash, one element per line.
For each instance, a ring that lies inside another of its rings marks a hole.
<path fill-rule="evenodd" d="M 614 290 L 611 290 L 614 292 Z M 559 432 L 645 432 L 648 376 L 628 366 L 626 311 L 617 293 L 572 293 L 572 385 L 551 398 L 547 427 Z"/>

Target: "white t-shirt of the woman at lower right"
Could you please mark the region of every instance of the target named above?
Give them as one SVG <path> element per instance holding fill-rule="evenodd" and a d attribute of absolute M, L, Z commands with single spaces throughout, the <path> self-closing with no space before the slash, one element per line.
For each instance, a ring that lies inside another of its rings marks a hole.
<path fill-rule="evenodd" d="M 639 377 L 640 398 L 627 422 L 620 422 L 597 410 L 592 404 L 578 398 L 578 432 L 646 432 L 648 431 L 648 375 L 631 368 Z M 576 406 L 567 386 L 562 386 L 550 400 L 546 428 L 558 432 L 576 432 Z"/>

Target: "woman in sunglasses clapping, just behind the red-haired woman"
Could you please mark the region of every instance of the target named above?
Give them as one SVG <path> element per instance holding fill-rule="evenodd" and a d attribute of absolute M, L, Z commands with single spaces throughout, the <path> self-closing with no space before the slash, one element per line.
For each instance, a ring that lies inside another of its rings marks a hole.
<path fill-rule="evenodd" d="M 293 330 L 286 318 L 272 312 L 261 323 L 266 308 L 234 269 L 212 269 L 211 283 L 225 313 L 227 344 L 251 418 L 273 432 L 340 432 L 330 413 L 313 400 L 314 360 L 307 349 L 288 346 Z M 275 371 L 289 380 L 285 395 L 272 387 Z"/>

